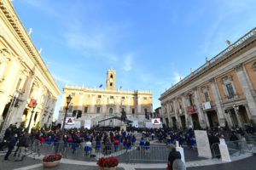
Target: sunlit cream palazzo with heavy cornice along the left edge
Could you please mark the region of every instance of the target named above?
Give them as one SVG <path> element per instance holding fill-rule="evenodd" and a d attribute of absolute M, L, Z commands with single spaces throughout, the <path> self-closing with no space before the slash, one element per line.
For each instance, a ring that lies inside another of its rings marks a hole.
<path fill-rule="evenodd" d="M 0 0 L 0 124 L 21 122 L 49 126 L 61 94 L 30 32 L 22 25 L 9 0 Z M 32 115 L 31 101 L 38 105 Z M 5 126 L 5 127 L 6 127 Z"/>

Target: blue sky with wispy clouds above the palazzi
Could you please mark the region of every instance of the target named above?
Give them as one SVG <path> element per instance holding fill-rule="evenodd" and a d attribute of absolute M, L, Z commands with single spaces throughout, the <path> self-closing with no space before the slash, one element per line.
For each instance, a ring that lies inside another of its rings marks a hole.
<path fill-rule="evenodd" d="M 254 0 L 15 0 L 15 10 L 62 91 L 67 84 L 151 89 L 158 98 L 179 77 L 256 26 Z M 55 116 L 60 108 L 58 99 Z"/>

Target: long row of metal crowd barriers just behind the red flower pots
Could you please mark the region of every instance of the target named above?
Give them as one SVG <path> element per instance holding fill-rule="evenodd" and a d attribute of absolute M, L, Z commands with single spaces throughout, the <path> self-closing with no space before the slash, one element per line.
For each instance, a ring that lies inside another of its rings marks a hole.
<path fill-rule="evenodd" d="M 42 143 L 35 140 L 30 147 L 30 150 L 33 152 L 34 156 L 49 155 L 55 153 L 56 146 L 57 143 L 55 142 Z M 90 149 L 84 143 L 60 143 L 59 150 L 65 158 L 97 161 L 97 159 L 102 156 L 116 156 L 119 161 L 127 163 L 148 161 L 166 163 L 169 152 L 171 151 L 166 145 L 131 145 L 131 147 L 127 148 L 123 144 L 119 144 L 118 146 L 114 146 L 113 144 L 101 144 L 101 147 L 98 147 L 95 143 L 91 145 Z"/>

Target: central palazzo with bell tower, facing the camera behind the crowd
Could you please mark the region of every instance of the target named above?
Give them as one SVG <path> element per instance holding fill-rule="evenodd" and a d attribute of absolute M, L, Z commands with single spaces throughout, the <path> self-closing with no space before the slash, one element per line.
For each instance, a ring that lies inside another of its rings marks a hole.
<path fill-rule="evenodd" d="M 125 111 L 127 119 L 137 122 L 143 127 L 147 120 L 145 115 L 153 112 L 152 93 L 143 90 L 122 90 L 115 88 L 116 71 L 108 70 L 106 88 L 85 88 L 79 86 L 68 86 L 63 88 L 63 97 L 59 112 L 59 123 L 62 123 L 67 107 L 66 98 L 73 98 L 67 111 L 68 116 L 75 117 L 76 122 L 84 126 L 86 120 L 91 121 L 91 127 L 98 122 L 113 116 L 121 116 Z M 99 124 L 100 126 L 119 126 L 118 120 L 108 120 Z"/>

